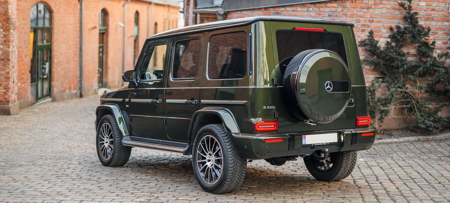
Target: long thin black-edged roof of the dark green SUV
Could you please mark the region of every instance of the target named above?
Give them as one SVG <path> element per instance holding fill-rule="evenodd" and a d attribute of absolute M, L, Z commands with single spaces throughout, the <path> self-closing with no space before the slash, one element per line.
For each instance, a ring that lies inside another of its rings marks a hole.
<path fill-rule="evenodd" d="M 220 26 L 221 23 L 216 23 L 216 22 L 224 22 L 223 24 L 232 23 L 233 21 L 238 20 L 238 19 L 241 19 L 242 21 L 236 21 L 235 24 L 227 24 L 227 25 L 223 25 L 223 26 Z M 246 18 L 237 18 L 237 19 L 231 19 L 231 20 L 225 20 L 225 21 L 216 21 L 216 22 L 211 22 L 211 25 L 217 24 L 218 26 L 216 26 L 216 27 L 207 27 L 207 28 L 203 28 L 203 29 L 182 31 L 183 29 L 194 28 L 194 27 L 199 27 L 200 25 L 207 25 L 207 24 L 209 24 L 209 23 L 202 23 L 202 24 L 193 25 L 193 26 L 189 26 L 189 27 L 179 28 L 180 32 L 169 33 L 169 34 L 164 34 L 164 32 L 161 32 L 161 33 L 158 33 L 156 36 L 150 36 L 147 39 L 148 40 L 157 40 L 157 39 L 171 37 L 171 36 L 180 36 L 180 35 L 193 34 L 193 33 L 198 33 L 198 32 L 208 32 L 208 31 L 214 31 L 214 30 L 220 30 L 220 29 L 226 29 L 226 28 L 233 28 L 233 27 L 243 27 L 243 26 L 251 25 L 251 24 L 259 22 L 259 21 L 275 21 L 275 22 L 290 22 L 290 23 L 312 23 L 312 24 L 343 25 L 343 26 L 355 27 L 355 25 L 353 23 L 347 23 L 347 22 L 342 22 L 342 21 L 323 20 L 323 19 L 315 19 L 315 18 L 297 18 L 297 19 L 295 19 L 293 17 L 260 16 L 260 17 L 250 17 L 250 19 L 247 18 L 248 21 L 244 22 L 245 19 Z M 238 23 L 238 22 L 243 22 L 243 23 Z M 169 31 L 173 32 L 175 30 L 169 30 Z M 166 31 L 166 32 L 169 32 L 169 31 Z"/>

